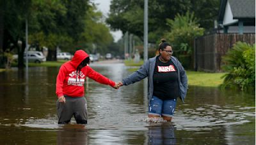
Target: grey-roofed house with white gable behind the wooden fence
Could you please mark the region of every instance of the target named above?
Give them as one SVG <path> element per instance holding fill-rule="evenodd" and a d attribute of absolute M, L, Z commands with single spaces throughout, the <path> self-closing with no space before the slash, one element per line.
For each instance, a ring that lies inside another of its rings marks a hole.
<path fill-rule="evenodd" d="M 255 33 L 255 0 L 222 0 L 218 26 L 223 33 Z"/>

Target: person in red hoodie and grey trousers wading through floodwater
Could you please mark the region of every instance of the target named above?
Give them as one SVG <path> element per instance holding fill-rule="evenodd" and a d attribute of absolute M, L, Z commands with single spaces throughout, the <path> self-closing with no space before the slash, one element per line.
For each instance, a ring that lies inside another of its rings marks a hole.
<path fill-rule="evenodd" d="M 58 123 L 69 123 L 74 115 L 76 123 L 87 123 L 87 102 L 84 97 L 84 81 L 89 78 L 118 89 L 119 86 L 111 79 L 94 71 L 87 64 L 90 63 L 89 55 L 83 50 L 77 50 L 72 60 L 60 67 L 56 79 L 56 95 Z"/>

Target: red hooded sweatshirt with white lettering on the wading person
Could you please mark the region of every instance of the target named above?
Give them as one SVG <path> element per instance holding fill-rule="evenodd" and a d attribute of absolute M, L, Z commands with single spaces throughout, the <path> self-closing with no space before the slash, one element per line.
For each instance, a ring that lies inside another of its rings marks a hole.
<path fill-rule="evenodd" d="M 56 79 L 56 95 L 61 97 L 68 95 L 70 97 L 84 96 L 84 81 L 86 76 L 89 78 L 110 86 L 115 86 L 115 82 L 102 76 L 99 72 L 94 71 L 90 66 L 85 66 L 81 71 L 77 71 L 77 67 L 81 62 L 89 57 L 83 50 L 77 50 L 72 60 L 65 62 L 60 67 Z"/>

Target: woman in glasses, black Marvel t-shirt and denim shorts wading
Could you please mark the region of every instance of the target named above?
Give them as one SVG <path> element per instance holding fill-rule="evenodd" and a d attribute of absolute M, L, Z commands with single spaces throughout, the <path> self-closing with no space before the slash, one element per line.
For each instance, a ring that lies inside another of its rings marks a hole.
<path fill-rule="evenodd" d="M 186 97 L 188 78 L 179 60 L 172 56 L 170 44 L 162 39 L 158 50 L 159 56 L 148 59 L 138 71 L 120 81 L 118 86 L 130 85 L 148 77 L 148 117 L 163 117 L 166 121 L 172 121 L 177 97 L 182 102 Z"/>

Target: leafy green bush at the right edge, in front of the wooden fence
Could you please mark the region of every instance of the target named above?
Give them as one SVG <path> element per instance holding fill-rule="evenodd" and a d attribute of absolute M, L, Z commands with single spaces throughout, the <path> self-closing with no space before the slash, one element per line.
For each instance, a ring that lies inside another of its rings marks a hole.
<path fill-rule="evenodd" d="M 222 88 L 255 90 L 255 45 L 237 42 L 223 57 Z"/>

